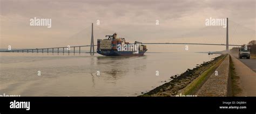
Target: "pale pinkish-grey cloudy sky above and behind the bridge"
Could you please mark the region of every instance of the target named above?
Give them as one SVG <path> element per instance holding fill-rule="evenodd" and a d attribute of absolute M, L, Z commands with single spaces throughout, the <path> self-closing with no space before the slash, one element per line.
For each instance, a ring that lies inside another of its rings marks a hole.
<path fill-rule="evenodd" d="M 205 20 L 229 20 L 229 44 L 255 40 L 255 0 L 0 0 L 0 48 L 89 45 L 117 32 L 128 42 L 225 44 L 226 28 Z M 31 26 L 31 18 L 51 19 L 51 28 Z M 99 20 L 99 25 L 97 25 Z M 156 25 L 159 20 L 159 25 Z M 188 45 L 191 52 L 222 51 L 225 46 Z M 186 52 L 185 45 L 148 45 L 150 52 Z M 232 48 L 232 47 L 230 47 Z"/>

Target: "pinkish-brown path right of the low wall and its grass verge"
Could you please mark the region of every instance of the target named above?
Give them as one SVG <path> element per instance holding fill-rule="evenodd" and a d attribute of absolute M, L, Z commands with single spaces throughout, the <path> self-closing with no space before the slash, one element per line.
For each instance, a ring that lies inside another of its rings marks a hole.
<path fill-rule="evenodd" d="M 238 81 L 239 87 L 242 89 L 240 94 L 236 96 L 256 96 L 256 73 L 234 56 L 231 57 L 234 63 L 234 70 L 240 77 Z"/>

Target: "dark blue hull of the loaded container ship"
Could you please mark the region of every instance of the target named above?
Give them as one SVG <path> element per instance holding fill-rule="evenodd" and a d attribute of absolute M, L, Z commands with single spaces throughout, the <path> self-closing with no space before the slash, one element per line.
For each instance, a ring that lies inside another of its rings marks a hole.
<path fill-rule="evenodd" d="M 97 49 L 97 53 L 105 56 L 142 56 L 145 51 L 139 51 L 139 53 L 131 52 L 131 51 L 117 51 L 117 50 L 99 50 Z"/>

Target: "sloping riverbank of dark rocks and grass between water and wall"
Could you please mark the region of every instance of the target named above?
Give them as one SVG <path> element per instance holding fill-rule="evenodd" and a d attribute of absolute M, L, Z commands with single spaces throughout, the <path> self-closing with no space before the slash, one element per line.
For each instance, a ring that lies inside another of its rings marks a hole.
<path fill-rule="evenodd" d="M 185 87 L 188 86 L 191 82 L 194 82 L 197 77 L 203 78 L 196 81 L 196 85 L 191 86 L 192 88 L 186 89 L 186 95 L 191 95 L 200 87 L 200 84 L 207 79 L 208 74 L 212 74 L 214 69 L 218 67 L 218 63 L 225 58 L 226 55 L 220 55 L 216 58 L 213 58 L 211 61 L 207 61 L 202 63 L 201 65 L 197 65 L 196 68 L 187 69 L 186 72 L 182 73 L 180 76 L 171 76 L 172 79 L 170 82 L 167 82 L 149 92 L 146 92 L 140 96 L 176 96 L 179 94 L 180 90 L 183 90 Z M 214 67 L 213 67 L 214 66 Z"/>

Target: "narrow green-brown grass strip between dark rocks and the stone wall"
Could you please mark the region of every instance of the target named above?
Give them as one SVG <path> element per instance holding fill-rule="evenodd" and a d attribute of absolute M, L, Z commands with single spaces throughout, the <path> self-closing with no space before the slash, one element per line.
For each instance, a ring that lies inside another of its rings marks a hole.
<path fill-rule="evenodd" d="M 207 69 L 203 74 L 197 77 L 193 82 L 188 84 L 182 91 L 182 95 L 194 95 L 198 91 L 198 89 L 203 86 L 204 82 L 208 79 L 208 77 L 211 76 L 212 73 L 214 73 L 215 69 L 219 67 L 219 65 L 223 62 L 223 60 L 226 58 L 227 54 L 223 56 L 222 59 L 220 59 L 215 65 L 211 66 L 209 69 Z"/>

